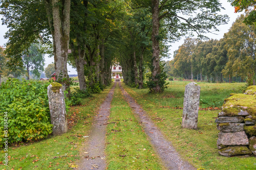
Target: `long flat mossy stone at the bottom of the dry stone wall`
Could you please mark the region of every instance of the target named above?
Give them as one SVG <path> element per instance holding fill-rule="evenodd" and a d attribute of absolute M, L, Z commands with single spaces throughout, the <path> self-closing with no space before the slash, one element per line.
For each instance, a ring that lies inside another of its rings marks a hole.
<path fill-rule="evenodd" d="M 221 149 L 219 150 L 219 154 L 223 156 L 243 155 L 251 154 L 251 151 L 246 146 L 236 146 Z"/>

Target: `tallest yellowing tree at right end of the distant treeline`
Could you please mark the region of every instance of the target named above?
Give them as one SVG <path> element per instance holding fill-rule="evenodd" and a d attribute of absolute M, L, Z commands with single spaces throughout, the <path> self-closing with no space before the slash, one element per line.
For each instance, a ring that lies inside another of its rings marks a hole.
<path fill-rule="evenodd" d="M 222 72 L 226 77 L 230 75 L 231 78 L 238 76 L 244 79 L 255 71 L 256 28 L 254 25 L 245 25 L 244 18 L 244 15 L 237 18 L 224 35 L 228 62 Z"/>

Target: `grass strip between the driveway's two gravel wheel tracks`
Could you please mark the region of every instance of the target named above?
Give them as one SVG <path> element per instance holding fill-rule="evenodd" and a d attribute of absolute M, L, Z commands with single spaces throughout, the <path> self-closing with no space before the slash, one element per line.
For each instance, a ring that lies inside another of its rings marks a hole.
<path fill-rule="evenodd" d="M 106 133 L 108 169 L 165 169 L 116 86 Z"/>

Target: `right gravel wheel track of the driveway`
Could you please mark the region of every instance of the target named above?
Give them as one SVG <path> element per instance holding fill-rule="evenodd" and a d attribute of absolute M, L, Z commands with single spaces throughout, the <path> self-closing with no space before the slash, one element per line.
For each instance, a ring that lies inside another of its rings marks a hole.
<path fill-rule="evenodd" d="M 147 116 L 146 112 L 138 105 L 135 100 L 123 89 L 120 83 L 118 83 L 124 99 L 129 103 L 133 112 L 138 116 L 145 133 L 150 138 L 153 147 L 156 149 L 159 157 L 161 158 L 164 166 L 168 169 L 179 170 L 194 170 L 196 169 L 187 161 L 181 159 L 180 155 L 172 146 L 172 143 L 167 141 L 161 131 L 155 126 L 151 119 Z"/>

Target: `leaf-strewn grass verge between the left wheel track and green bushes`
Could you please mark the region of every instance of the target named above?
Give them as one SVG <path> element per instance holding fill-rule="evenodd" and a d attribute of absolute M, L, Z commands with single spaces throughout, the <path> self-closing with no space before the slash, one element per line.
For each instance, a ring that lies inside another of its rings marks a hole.
<path fill-rule="evenodd" d="M 112 87 L 112 86 L 111 86 Z M 111 87 L 99 94 L 83 100 L 83 106 L 71 107 L 68 114 L 69 125 L 74 125 L 68 133 L 32 143 L 9 146 L 8 165 L 1 164 L 0 169 L 73 169 L 77 165 L 79 152 L 91 129 L 92 119 Z M 83 142 L 83 143 L 82 143 Z M 4 151 L 0 151 L 0 162 L 4 160 Z M 1 162 L 4 163 L 4 162 Z"/>

